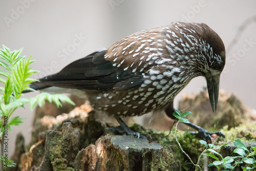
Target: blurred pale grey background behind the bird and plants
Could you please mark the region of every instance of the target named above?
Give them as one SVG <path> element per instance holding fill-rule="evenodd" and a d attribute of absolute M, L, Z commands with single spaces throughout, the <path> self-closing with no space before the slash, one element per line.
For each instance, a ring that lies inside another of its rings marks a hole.
<path fill-rule="evenodd" d="M 255 109 L 255 16 L 253 0 L 2 0 L 0 44 L 11 50 L 23 47 L 22 55 L 32 55 L 36 59 L 32 68 L 41 71 L 34 75 L 38 78 L 56 73 L 68 63 L 137 31 L 175 21 L 206 23 L 220 35 L 227 48 L 220 89 L 236 94 L 245 105 Z M 203 77 L 192 80 L 176 97 L 176 107 L 183 93 L 198 93 L 204 86 Z M 29 93 L 26 97 L 34 95 Z M 13 114 L 27 119 L 9 132 L 9 156 L 17 132 L 26 136 L 26 143 L 30 139 L 33 112 L 25 107 L 26 110 L 19 109 Z"/>

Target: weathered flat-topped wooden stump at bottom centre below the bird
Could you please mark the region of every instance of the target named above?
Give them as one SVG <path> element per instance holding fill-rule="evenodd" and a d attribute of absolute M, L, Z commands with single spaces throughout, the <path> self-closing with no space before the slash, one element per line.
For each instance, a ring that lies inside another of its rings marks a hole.
<path fill-rule="evenodd" d="M 134 136 L 102 136 L 95 145 L 82 149 L 76 170 L 179 170 L 159 143 Z"/>

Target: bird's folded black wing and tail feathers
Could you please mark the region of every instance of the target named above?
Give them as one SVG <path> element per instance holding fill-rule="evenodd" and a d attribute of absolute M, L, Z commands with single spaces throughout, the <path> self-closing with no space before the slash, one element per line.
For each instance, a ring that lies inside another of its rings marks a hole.
<path fill-rule="evenodd" d="M 94 52 L 78 59 L 59 73 L 39 79 L 34 85 L 40 86 L 38 89 L 55 86 L 79 90 L 127 90 L 144 81 L 141 73 L 114 67 L 111 61 L 104 59 L 105 52 Z"/>

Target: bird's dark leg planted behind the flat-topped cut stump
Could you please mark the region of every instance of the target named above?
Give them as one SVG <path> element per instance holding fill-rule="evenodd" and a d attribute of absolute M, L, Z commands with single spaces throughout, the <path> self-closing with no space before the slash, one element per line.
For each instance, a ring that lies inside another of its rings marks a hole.
<path fill-rule="evenodd" d="M 126 133 L 127 135 L 134 135 L 138 138 L 146 139 L 144 135 L 140 135 L 140 133 L 136 133 L 127 126 L 121 118 L 116 117 L 116 120 L 120 124 L 120 127 L 112 127 L 111 130 L 118 133 Z M 121 130 L 120 130 L 121 129 Z"/>

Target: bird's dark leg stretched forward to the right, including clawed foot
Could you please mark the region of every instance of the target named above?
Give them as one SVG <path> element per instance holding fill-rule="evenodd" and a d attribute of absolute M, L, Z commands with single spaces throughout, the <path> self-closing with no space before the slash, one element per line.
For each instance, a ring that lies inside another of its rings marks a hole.
<path fill-rule="evenodd" d="M 173 102 L 171 102 L 167 106 L 167 108 L 165 109 L 165 113 L 168 117 L 170 117 L 172 119 L 176 119 L 173 116 L 174 111 L 175 111 L 175 109 L 174 109 L 174 106 L 173 106 Z M 190 132 L 191 134 L 194 134 L 197 138 L 200 138 L 200 139 L 205 140 L 207 142 L 209 141 L 211 143 L 211 135 L 212 134 L 217 134 L 218 136 L 221 136 L 221 137 L 225 138 L 225 135 L 223 133 L 221 133 L 220 131 L 215 132 L 215 133 L 211 133 L 211 132 L 208 132 L 207 130 L 205 130 L 203 127 L 200 127 L 200 126 L 198 126 L 194 123 L 191 123 L 189 121 L 188 121 L 188 123 L 185 123 L 185 124 L 198 131 L 198 133 Z"/>

